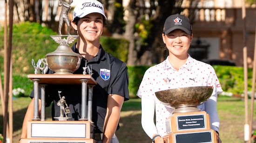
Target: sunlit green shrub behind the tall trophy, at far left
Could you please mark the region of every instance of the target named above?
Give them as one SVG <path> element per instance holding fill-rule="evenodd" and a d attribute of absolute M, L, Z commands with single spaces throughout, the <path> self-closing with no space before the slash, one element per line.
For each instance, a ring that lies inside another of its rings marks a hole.
<path fill-rule="evenodd" d="M 52 52 L 58 46 L 49 35 L 56 35 L 54 31 L 41 26 L 38 23 L 23 22 L 13 25 L 12 37 L 12 63 L 13 73 L 33 73 L 31 60 L 37 61 L 44 58 L 46 53 Z M 0 38 L 3 39 L 3 28 L 0 30 Z M 3 51 L 3 40 L 0 41 L 0 50 Z M 3 55 L 0 62 L 3 63 Z M 3 64 L 0 64 L 3 70 Z"/>

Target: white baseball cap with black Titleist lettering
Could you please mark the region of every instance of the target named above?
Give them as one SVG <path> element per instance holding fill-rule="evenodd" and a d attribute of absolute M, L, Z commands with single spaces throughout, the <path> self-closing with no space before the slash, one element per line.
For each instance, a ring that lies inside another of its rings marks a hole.
<path fill-rule="evenodd" d="M 100 13 L 105 16 L 104 7 L 98 0 L 81 0 L 75 7 L 73 12 L 73 20 L 76 17 L 82 18 L 90 13 Z"/>

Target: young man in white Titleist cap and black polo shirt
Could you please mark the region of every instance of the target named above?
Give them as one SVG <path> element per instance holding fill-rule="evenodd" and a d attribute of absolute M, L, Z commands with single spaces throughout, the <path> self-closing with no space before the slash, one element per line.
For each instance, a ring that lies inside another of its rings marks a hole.
<path fill-rule="evenodd" d="M 115 131 L 120 128 L 119 118 L 122 104 L 129 99 L 128 72 L 126 63 L 105 52 L 100 44 L 100 37 L 106 16 L 102 4 L 97 0 L 81 0 L 74 8 L 71 22 L 79 35 L 71 49 L 81 54 L 80 68 L 73 74 L 82 74 L 85 63 L 92 67 L 92 77 L 97 82 L 93 88 L 92 120 L 96 126 L 95 133 L 101 136 L 99 143 L 119 143 Z M 53 74 L 49 70 L 48 74 Z M 81 85 L 46 86 L 46 106 L 52 107 L 52 118 L 60 116 L 60 100 L 58 91 L 65 96 L 70 108 L 70 120 L 81 118 Z M 40 92 L 39 92 L 40 93 Z M 32 91 L 31 98 L 34 97 Z M 39 101 L 40 102 L 40 101 Z M 40 103 L 39 103 L 40 105 Z M 34 99 L 31 101 L 25 115 L 21 138 L 27 137 L 27 121 L 33 118 Z"/>

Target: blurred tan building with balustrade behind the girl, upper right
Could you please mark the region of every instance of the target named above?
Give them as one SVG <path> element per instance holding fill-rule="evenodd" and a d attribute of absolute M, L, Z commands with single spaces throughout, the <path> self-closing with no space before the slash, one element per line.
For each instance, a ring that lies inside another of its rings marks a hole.
<path fill-rule="evenodd" d="M 194 39 L 189 53 L 211 64 L 243 66 L 242 0 L 201 0 L 196 5 L 183 0 L 182 14 L 194 12 Z M 256 8 L 246 6 L 248 66 L 252 68 L 255 46 Z M 200 54 L 199 54 L 200 53 Z M 206 54 L 206 55 L 205 55 Z"/>

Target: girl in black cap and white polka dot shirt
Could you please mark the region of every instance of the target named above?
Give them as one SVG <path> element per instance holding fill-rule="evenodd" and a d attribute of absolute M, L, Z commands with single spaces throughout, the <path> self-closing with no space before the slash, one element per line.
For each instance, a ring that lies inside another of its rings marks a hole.
<path fill-rule="evenodd" d="M 222 88 L 214 68 L 188 54 L 192 38 L 192 28 L 187 17 L 180 14 L 169 16 L 162 33 L 169 55 L 165 61 L 148 68 L 137 92 L 137 96 L 141 98 L 141 125 L 154 143 L 164 143 L 162 137 L 167 134 L 165 120 L 174 111 L 174 108 L 164 106 L 156 98 L 155 92 L 198 86 L 213 87 L 211 97 L 198 106 L 198 109 L 209 114 L 211 129 L 217 132 L 218 143 L 222 143 L 216 107 L 217 95 L 222 92 Z"/>

